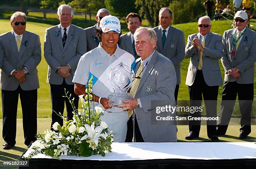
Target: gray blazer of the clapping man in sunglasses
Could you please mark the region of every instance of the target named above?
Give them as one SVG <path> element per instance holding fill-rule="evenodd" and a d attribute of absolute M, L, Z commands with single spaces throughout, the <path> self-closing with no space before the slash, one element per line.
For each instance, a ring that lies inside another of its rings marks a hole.
<path fill-rule="evenodd" d="M 186 85 L 192 86 L 197 73 L 199 63 L 200 50 L 195 49 L 192 40 L 195 36 L 200 39 L 200 33 L 194 33 L 187 38 L 187 46 L 185 48 L 185 58 L 190 58 L 187 70 Z M 223 45 L 222 37 L 219 34 L 209 32 L 205 39 L 205 49 L 203 53 L 202 73 L 205 83 L 208 86 L 219 86 L 223 84 L 218 60 L 222 57 Z"/>

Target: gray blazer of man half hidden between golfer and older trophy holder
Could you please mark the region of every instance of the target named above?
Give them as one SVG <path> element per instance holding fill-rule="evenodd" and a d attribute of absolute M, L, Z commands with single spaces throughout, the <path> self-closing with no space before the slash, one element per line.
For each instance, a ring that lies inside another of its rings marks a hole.
<path fill-rule="evenodd" d="M 125 33 L 121 35 L 118 41 L 119 48 L 131 53 L 133 56 L 135 55 L 133 51 L 133 44 L 131 42 L 131 32 Z"/>

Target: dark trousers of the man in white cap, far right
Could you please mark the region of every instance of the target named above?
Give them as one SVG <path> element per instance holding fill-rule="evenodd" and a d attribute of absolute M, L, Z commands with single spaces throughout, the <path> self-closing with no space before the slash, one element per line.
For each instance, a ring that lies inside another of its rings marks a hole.
<path fill-rule="evenodd" d="M 241 128 L 246 135 L 251 133 L 251 108 L 253 103 L 253 83 L 238 84 L 225 81 L 223 84 L 222 100 L 220 104 L 220 123 L 217 126 L 217 133 L 225 135 L 228 124 L 233 113 L 238 95 L 238 103 L 241 111 Z"/>

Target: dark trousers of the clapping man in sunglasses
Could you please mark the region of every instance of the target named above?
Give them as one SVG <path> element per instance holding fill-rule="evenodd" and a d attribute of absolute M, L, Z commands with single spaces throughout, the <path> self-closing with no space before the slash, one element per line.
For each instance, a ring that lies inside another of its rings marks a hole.
<path fill-rule="evenodd" d="M 205 83 L 202 71 L 197 70 L 195 81 L 192 86 L 189 86 L 189 97 L 191 106 L 200 107 L 202 104 L 202 97 L 205 102 L 206 116 L 217 116 L 217 98 L 219 86 L 208 86 Z M 201 117 L 201 112 L 190 113 L 192 117 Z M 216 132 L 217 121 L 207 121 L 207 135 L 217 135 Z M 189 121 L 189 133 L 194 136 L 199 136 L 201 121 Z"/>

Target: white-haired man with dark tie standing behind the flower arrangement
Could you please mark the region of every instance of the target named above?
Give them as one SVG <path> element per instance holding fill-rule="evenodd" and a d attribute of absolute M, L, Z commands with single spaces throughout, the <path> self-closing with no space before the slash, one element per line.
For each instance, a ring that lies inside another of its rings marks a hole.
<path fill-rule="evenodd" d="M 70 99 L 74 98 L 74 106 L 78 108 L 78 96 L 74 93 L 72 79 L 80 57 L 86 52 L 86 35 L 84 29 L 71 24 L 74 11 L 69 5 L 60 5 L 58 10 L 59 25 L 46 29 L 44 38 L 44 57 L 48 63 L 47 83 L 51 90 L 51 126 L 58 122 L 63 125 L 60 117 L 67 108 L 67 121 L 73 118 Z M 56 114 L 57 113 L 57 114 Z M 51 128 L 52 129 L 52 128 Z"/>

